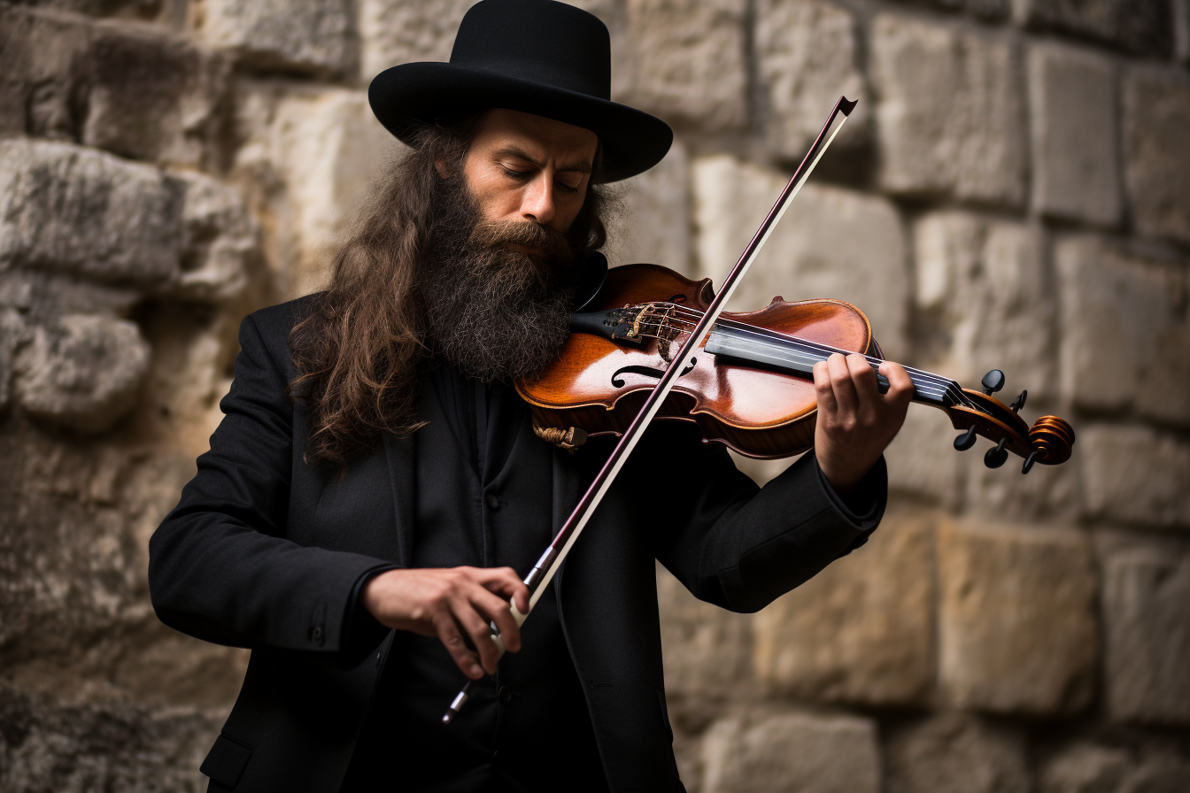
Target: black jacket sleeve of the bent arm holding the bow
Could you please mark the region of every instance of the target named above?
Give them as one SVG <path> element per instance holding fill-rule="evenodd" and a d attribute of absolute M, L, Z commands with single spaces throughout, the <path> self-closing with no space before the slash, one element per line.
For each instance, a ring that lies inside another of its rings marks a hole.
<path fill-rule="evenodd" d="M 208 642 L 338 654 L 357 583 L 387 562 L 284 539 L 293 404 L 278 358 L 289 354 L 288 328 L 270 334 L 270 350 L 255 316 L 240 325 L 211 451 L 149 541 L 149 593 L 163 623 Z"/>

